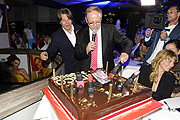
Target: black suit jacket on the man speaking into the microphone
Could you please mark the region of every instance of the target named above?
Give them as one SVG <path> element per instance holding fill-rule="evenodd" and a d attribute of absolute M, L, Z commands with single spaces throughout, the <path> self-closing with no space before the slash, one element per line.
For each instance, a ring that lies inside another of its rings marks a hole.
<path fill-rule="evenodd" d="M 113 61 L 113 50 L 114 44 L 118 43 L 122 46 L 122 52 L 131 54 L 133 47 L 133 41 L 122 34 L 114 25 L 101 24 L 102 34 L 102 57 L 103 57 L 103 68 L 106 67 L 108 61 L 108 71 L 114 68 Z M 89 27 L 81 29 L 77 33 L 76 46 L 75 46 L 75 58 L 82 60 L 81 70 L 90 70 L 91 53 L 86 53 L 86 46 L 90 42 Z"/>

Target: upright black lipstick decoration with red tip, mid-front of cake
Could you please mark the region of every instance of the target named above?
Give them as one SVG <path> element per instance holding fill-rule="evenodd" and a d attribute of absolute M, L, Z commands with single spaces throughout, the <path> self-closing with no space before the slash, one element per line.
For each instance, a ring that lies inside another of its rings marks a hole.
<path fill-rule="evenodd" d="M 88 96 L 90 98 L 94 97 L 94 86 L 93 86 L 93 77 L 88 76 Z"/>

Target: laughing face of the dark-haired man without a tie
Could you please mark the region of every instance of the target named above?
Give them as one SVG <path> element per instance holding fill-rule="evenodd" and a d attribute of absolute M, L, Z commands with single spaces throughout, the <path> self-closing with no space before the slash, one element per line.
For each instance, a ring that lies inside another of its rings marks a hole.
<path fill-rule="evenodd" d="M 59 22 L 66 31 L 72 30 L 72 20 L 66 14 L 61 14 L 62 20 Z"/>

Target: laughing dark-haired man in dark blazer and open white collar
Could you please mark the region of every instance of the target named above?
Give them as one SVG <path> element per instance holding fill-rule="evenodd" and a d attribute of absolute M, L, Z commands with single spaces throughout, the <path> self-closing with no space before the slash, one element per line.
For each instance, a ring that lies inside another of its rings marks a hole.
<path fill-rule="evenodd" d="M 80 61 L 74 57 L 74 46 L 76 43 L 76 32 L 81 28 L 78 25 L 72 25 L 72 13 L 67 8 L 62 8 L 58 11 L 60 27 L 51 36 L 51 43 L 46 52 L 42 52 L 40 57 L 42 60 L 47 60 L 53 56 L 58 50 L 61 53 L 65 63 L 65 73 L 78 72 L 80 70 Z"/>

